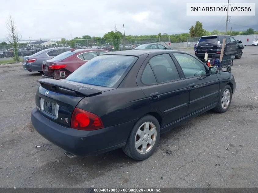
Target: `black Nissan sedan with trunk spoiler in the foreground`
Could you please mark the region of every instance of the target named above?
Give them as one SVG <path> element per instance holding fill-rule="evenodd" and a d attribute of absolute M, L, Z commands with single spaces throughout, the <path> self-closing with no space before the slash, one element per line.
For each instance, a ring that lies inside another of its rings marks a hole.
<path fill-rule="evenodd" d="M 43 137 L 73 155 L 123 149 L 148 158 L 160 134 L 209 109 L 224 113 L 234 76 L 175 50 L 96 56 L 63 80 L 41 79 L 31 113 Z"/>

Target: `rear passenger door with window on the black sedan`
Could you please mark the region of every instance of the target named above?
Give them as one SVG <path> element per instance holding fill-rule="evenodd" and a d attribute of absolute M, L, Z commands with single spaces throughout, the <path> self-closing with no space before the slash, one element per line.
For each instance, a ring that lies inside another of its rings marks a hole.
<path fill-rule="evenodd" d="M 164 124 L 168 125 L 184 117 L 189 103 L 187 82 L 169 54 L 148 56 L 138 73 L 137 85 L 144 92 L 151 107 L 162 113 Z"/>

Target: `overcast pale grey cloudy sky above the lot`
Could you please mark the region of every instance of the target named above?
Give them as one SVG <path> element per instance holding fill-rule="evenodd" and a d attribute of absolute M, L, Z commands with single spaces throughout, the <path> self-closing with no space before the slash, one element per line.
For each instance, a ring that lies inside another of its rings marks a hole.
<path fill-rule="evenodd" d="M 230 3 L 253 3 L 257 0 L 230 0 Z M 226 16 L 187 16 L 186 3 L 225 3 L 227 0 L 20 0 L 5 1 L 0 7 L 0 41 L 6 37 L 5 22 L 14 18 L 23 40 L 71 39 L 83 35 L 103 37 L 117 30 L 125 35 L 189 33 L 196 21 L 208 31 L 225 31 Z M 256 16 L 231 16 L 228 29 L 242 31 L 249 27 L 258 30 Z"/>

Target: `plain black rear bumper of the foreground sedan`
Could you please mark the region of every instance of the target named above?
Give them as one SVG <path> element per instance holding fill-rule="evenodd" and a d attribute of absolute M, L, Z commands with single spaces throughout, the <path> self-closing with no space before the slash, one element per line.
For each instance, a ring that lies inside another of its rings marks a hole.
<path fill-rule="evenodd" d="M 31 112 L 31 122 L 44 138 L 74 155 L 86 156 L 108 152 L 125 145 L 136 120 L 103 129 L 85 131 L 63 127 L 37 109 Z"/>

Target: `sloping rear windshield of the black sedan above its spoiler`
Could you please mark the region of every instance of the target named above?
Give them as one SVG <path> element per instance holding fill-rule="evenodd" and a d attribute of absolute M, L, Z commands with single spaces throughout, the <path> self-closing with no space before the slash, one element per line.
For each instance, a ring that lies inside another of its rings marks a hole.
<path fill-rule="evenodd" d="M 113 87 L 136 62 L 137 57 L 125 55 L 99 55 L 89 60 L 66 78 L 74 82 Z"/>

